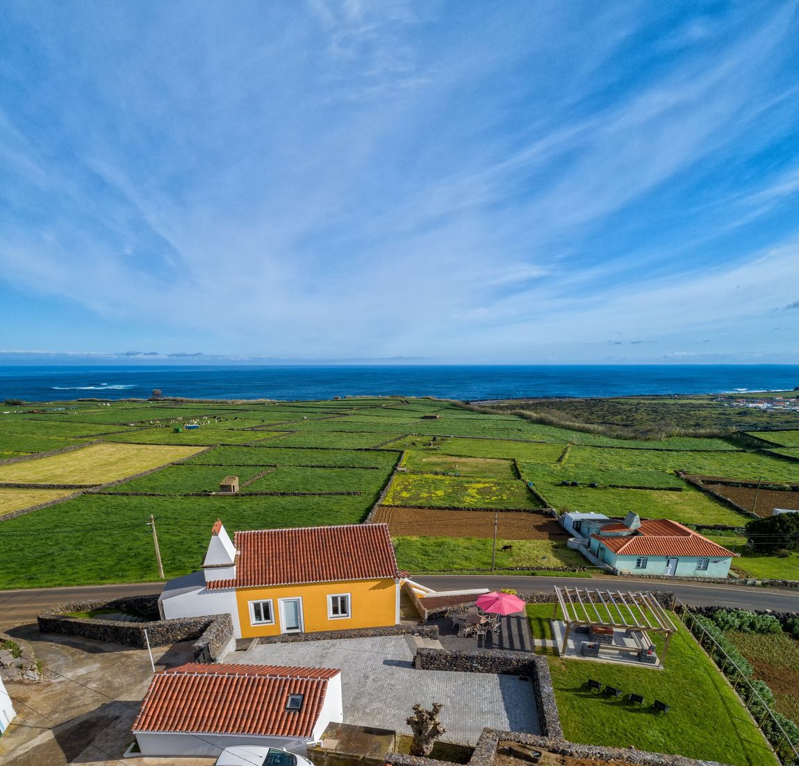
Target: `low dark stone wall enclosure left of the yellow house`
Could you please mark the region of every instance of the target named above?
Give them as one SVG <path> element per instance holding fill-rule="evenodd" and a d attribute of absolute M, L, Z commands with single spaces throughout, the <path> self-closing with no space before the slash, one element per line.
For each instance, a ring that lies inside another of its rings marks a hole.
<path fill-rule="evenodd" d="M 119 609 L 143 621 L 122 622 L 103 620 L 101 617 L 69 616 L 70 613 L 93 612 L 96 609 Z M 157 594 L 59 604 L 39 613 L 37 621 L 40 633 L 81 636 L 136 649 L 146 649 L 147 641 L 150 646 L 166 646 L 177 641 L 196 639 L 192 649 L 197 662 L 216 662 L 235 645 L 233 620 L 229 614 L 162 620 L 158 612 Z"/>

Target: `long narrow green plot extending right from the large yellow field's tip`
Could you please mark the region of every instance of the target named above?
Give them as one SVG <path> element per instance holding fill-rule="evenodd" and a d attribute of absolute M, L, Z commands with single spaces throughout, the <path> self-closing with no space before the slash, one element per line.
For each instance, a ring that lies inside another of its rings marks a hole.
<path fill-rule="evenodd" d="M 394 467 L 400 457 L 396 452 L 376 450 L 281 449 L 265 446 L 216 447 L 189 461 L 192 465 L 229 466 L 334 466 L 354 468 Z"/>

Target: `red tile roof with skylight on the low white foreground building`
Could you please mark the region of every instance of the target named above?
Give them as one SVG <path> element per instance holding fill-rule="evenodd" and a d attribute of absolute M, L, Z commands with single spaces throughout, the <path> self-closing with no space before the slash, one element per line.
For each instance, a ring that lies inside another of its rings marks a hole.
<path fill-rule="evenodd" d="M 276 665 L 189 663 L 161 670 L 151 681 L 134 732 L 312 736 L 340 670 Z M 298 711 L 289 694 L 304 695 Z"/>

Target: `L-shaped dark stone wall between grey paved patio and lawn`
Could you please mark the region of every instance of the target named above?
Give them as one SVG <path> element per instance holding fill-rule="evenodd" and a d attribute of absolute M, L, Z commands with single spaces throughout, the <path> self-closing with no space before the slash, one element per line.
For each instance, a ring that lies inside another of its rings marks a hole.
<path fill-rule="evenodd" d="M 561 738 L 558 705 L 547 658 L 532 652 L 502 652 L 478 650 L 475 652 L 447 651 L 446 649 L 416 649 L 413 666 L 417 670 L 449 670 L 459 673 L 501 673 L 528 676 L 533 685 L 539 726 L 546 736 Z"/>

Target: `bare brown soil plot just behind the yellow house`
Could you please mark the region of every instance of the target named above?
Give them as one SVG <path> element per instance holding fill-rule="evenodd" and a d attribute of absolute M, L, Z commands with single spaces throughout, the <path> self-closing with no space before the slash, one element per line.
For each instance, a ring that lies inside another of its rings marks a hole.
<path fill-rule="evenodd" d="M 431 510 L 380 506 L 372 522 L 388 524 L 391 534 L 441 538 L 491 538 L 498 517 L 505 540 L 567 540 L 569 535 L 551 516 L 512 510 Z"/>

